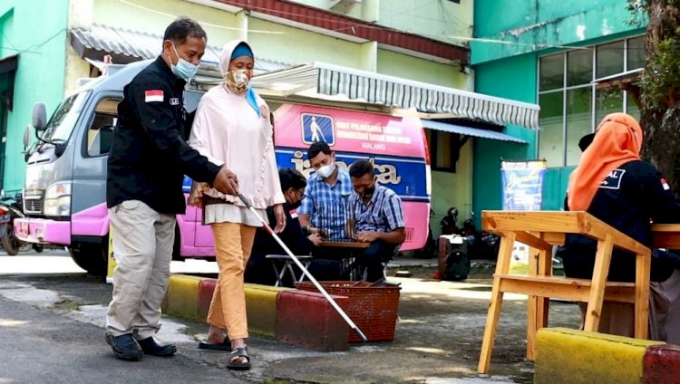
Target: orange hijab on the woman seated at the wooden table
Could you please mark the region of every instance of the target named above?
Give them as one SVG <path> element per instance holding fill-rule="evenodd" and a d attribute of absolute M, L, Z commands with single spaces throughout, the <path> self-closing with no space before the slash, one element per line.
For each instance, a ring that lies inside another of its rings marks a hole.
<path fill-rule="evenodd" d="M 568 207 L 587 210 L 607 175 L 627 162 L 640 159 L 642 129 L 626 113 L 612 113 L 597 126 L 592 143 L 569 176 Z M 585 139 L 585 138 L 584 138 Z"/>

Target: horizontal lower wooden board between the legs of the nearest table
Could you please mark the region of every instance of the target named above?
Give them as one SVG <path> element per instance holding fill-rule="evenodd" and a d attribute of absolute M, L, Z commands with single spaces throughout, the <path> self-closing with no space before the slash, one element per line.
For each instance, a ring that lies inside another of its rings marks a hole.
<path fill-rule="evenodd" d="M 548 281 L 530 281 L 515 279 L 509 274 L 500 278 L 500 291 L 503 293 L 523 293 L 533 296 L 568 300 L 572 302 L 588 302 L 590 286 L 586 284 L 550 283 Z M 554 278 L 553 280 L 560 280 Z M 635 303 L 635 286 L 633 284 L 612 285 L 605 288 L 605 299 L 611 302 Z"/>

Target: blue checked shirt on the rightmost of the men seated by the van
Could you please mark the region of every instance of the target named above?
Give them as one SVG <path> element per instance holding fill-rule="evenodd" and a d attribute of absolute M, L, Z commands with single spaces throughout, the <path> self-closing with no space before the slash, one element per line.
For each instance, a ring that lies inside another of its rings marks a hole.
<path fill-rule="evenodd" d="M 350 212 L 356 221 L 356 232 L 392 232 L 403 228 L 402 199 L 388 187 L 375 185 L 371 201 L 364 204 L 364 199 L 354 193 L 349 198 Z"/>

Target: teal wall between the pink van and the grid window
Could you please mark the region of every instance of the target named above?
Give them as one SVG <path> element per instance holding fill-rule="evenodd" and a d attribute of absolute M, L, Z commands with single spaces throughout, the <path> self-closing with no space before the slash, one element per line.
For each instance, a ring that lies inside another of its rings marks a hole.
<path fill-rule="evenodd" d="M 525 54 L 503 61 L 487 62 L 475 67 L 475 91 L 510 100 L 536 102 L 536 55 Z M 500 209 L 500 158 L 528 159 L 536 154 L 536 131 L 520 127 L 504 130 L 528 141 L 476 139 L 474 147 L 473 199 L 475 214 L 484 209 Z"/>

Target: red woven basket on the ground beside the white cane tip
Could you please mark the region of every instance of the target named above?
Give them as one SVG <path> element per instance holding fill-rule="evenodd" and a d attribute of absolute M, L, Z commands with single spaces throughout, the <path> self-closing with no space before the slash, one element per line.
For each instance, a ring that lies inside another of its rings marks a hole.
<path fill-rule="evenodd" d="M 393 341 L 399 291 L 397 284 L 371 286 L 365 282 L 320 282 L 328 294 L 346 296 L 347 316 L 364 332 L 368 341 Z M 311 282 L 296 283 L 302 291 L 318 292 Z M 361 342 L 355 331 L 349 330 L 349 342 Z"/>

